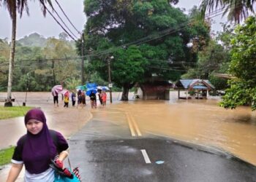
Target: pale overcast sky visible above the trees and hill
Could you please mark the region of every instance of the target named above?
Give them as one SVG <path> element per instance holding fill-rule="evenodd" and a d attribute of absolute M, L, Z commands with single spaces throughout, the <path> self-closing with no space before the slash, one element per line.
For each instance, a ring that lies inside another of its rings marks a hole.
<path fill-rule="evenodd" d="M 179 0 L 178 7 L 188 10 L 195 5 L 198 6 L 199 3 L 200 0 Z M 61 0 L 59 1 L 59 4 L 61 4 L 62 9 L 64 9 L 64 12 L 66 12 L 71 22 L 75 25 L 75 28 L 77 28 L 78 31 L 82 31 L 86 23 L 86 15 L 83 12 L 83 0 Z M 56 11 L 59 12 L 61 17 L 64 16 L 56 4 L 53 4 L 53 6 Z M 63 32 L 61 27 L 49 14 L 47 14 L 46 17 L 43 17 L 37 1 L 29 1 L 29 14 L 30 15 L 28 16 L 26 15 L 26 12 L 23 12 L 23 17 L 21 19 L 18 17 L 17 39 L 34 32 L 45 37 L 58 37 L 59 33 Z M 63 20 L 66 20 L 65 17 L 63 17 Z M 222 28 L 219 25 L 219 22 L 225 22 L 225 20 L 222 20 L 221 16 L 214 18 L 214 20 L 216 22 L 213 25 L 214 31 L 221 31 Z M 65 21 L 65 23 L 69 26 L 71 31 L 75 33 L 75 36 L 78 37 L 79 34 L 72 28 L 72 25 L 69 25 L 67 21 Z M 0 39 L 7 37 L 10 40 L 12 33 L 11 19 L 7 9 L 4 7 L 0 7 L 0 25 Z"/>

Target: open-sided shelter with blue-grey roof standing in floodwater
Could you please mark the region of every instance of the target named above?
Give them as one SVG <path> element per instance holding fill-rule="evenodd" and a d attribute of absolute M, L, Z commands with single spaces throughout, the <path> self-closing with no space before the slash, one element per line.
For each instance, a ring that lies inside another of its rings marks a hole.
<path fill-rule="evenodd" d="M 178 90 L 179 99 L 207 98 L 207 92 L 214 90 L 214 85 L 208 79 L 180 79 L 175 86 Z M 181 96 L 181 90 L 185 91 L 186 97 Z"/>

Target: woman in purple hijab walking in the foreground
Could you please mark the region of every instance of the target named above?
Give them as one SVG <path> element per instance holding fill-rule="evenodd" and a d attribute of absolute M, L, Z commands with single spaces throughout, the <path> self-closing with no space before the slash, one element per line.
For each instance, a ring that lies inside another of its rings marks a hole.
<path fill-rule="evenodd" d="M 54 181 L 54 171 L 49 167 L 52 159 L 64 169 L 63 160 L 68 155 L 68 144 L 63 135 L 48 130 L 45 114 L 33 108 L 25 116 L 26 135 L 23 135 L 15 147 L 12 167 L 7 182 L 15 181 L 25 165 L 24 181 Z M 68 170 L 64 170 L 69 175 Z"/>

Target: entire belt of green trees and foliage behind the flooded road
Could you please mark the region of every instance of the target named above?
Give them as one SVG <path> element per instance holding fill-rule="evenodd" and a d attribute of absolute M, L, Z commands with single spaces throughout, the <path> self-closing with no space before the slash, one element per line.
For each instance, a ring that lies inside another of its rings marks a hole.
<path fill-rule="evenodd" d="M 73 89 L 80 84 L 83 55 L 86 82 L 108 85 L 111 81 L 113 91 L 122 89 L 121 100 L 128 100 L 136 84 L 154 79 L 174 83 L 208 79 L 225 93 L 220 106 L 256 110 L 256 17 L 250 13 L 255 1 L 204 0 L 188 14 L 174 6 L 177 3 L 84 0 L 88 18 L 78 41 L 69 41 L 66 33 L 60 33 L 59 39 L 33 33 L 17 41 L 12 91 L 50 91 L 61 83 Z M 241 24 L 225 24 L 214 33 L 210 19 L 223 8 L 229 20 Z M 8 40 L 0 39 L 3 92 L 7 91 L 9 56 Z M 227 81 L 218 74 L 233 79 Z"/>

